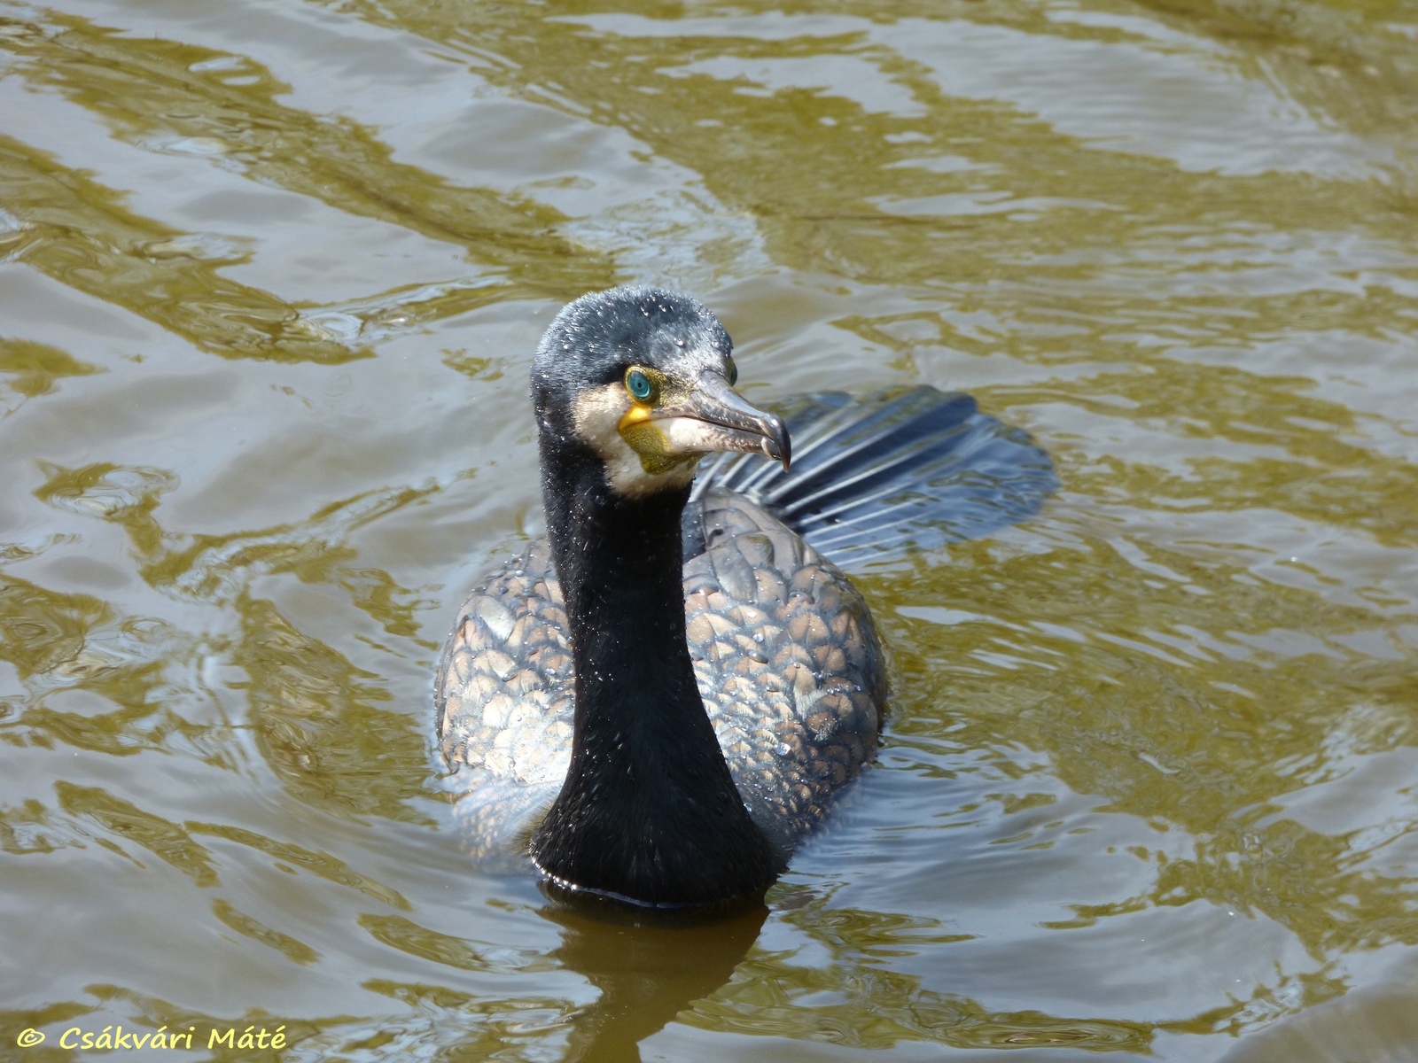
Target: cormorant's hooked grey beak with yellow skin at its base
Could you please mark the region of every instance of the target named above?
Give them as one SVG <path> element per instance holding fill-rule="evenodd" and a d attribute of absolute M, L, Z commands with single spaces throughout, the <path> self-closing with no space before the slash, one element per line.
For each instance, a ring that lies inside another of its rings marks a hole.
<path fill-rule="evenodd" d="M 766 454 L 783 462 L 784 471 L 793 456 L 783 418 L 749 404 L 716 376 L 702 377 L 688 391 L 666 394 L 662 405 L 631 407 L 617 428 L 649 473 L 715 451 Z"/>

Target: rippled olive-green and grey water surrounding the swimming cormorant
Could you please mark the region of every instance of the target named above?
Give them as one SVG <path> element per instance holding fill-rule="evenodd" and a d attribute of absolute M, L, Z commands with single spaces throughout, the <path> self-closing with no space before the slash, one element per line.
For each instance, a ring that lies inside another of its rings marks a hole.
<path fill-rule="evenodd" d="M 0 0 L 0 1056 L 1412 1059 L 1415 86 L 1412 0 Z M 1062 480 L 859 580 L 879 765 L 709 928 L 430 740 L 630 281 Z"/>

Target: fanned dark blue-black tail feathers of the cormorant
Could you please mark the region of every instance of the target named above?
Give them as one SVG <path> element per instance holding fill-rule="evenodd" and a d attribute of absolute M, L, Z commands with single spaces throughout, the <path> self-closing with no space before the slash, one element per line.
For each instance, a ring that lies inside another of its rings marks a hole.
<path fill-rule="evenodd" d="M 970 395 L 929 386 L 854 400 L 841 391 L 777 407 L 793 469 L 722 454 L 700 466 L 710 488 L 767 506 L 842 568 L 976 539 L 1031 517 L 1058 489 L 1054 462 L 1020 428 Z"/>

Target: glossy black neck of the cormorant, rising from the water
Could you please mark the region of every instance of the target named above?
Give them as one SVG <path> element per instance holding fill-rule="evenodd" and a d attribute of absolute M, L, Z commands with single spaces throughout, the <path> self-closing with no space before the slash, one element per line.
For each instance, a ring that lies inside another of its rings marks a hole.
<path fill-rule="evenodd" d="M 781 862 L 733 785 L 685 642 L 679 520 L 689 489 L 624 497 L 591 452 L 545 438 L 542 478 L 576 663 L 576 731 L 532 855 L 569 884 L 641 903 L 705 903 L 767 884 Z"/>

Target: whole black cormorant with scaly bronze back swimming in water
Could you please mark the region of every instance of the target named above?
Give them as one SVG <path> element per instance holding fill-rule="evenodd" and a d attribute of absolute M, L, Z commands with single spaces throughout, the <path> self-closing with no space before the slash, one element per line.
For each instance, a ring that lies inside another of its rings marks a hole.
<path fill-rule="evenodd" d="M 474 846 L 525 845 L 563 889 L 675 907 L 771 883 L 885 710 L 834 558 L 1008 523 L 1054 488 L 964 395 L 815 395 L 784 420 L 735 391 L 732 351 L 703 303 L 635 286 L 567 305 L 533 359 L 549 534 L 469 595 L 435 702 Z"/>

